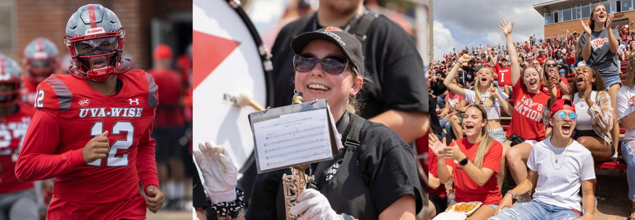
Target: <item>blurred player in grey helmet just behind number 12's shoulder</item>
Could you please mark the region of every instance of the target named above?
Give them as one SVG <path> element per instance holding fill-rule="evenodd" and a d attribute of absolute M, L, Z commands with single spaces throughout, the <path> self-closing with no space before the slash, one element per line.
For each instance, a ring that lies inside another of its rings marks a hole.
<path fill-rule="evenodd" d="M 23 86 L 20 89 L 22 101 L 34 104 L 37 84 L 44 81 L 49 75 L 58 73 L 60 69 L 59 52 L 57 47 L 49 39 L 38 37 L 24 48 Z M 61 67 L 68 68 L 70 65 Z"/>

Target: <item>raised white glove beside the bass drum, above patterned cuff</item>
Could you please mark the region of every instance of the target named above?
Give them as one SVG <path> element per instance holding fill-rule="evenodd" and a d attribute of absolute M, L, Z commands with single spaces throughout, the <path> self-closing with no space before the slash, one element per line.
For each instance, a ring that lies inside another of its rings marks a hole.
<path fill-rule="evenodd" d="M 199 151 L 194 150 L 196 164 L 201 169 L 205 183 L 203 187 L 212 204 L 236 200 L 236 167 L 227 151 L 211 141 L 199 143 Z"/>

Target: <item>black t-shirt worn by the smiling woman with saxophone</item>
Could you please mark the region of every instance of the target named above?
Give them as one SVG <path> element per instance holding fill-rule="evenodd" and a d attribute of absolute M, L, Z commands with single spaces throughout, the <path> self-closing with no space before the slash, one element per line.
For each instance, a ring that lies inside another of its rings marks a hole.
<path fill-rule="evenodd" d="M 338 132 L 342 135 L 342 143 L 347 136 L 347 131 L 350 125 L 340 124 L 342 120 L 338 121 Z M 372 198 L 370 202 L 371 207 L 377 211 L 377 216 L 373 216 L 375 219 L 378 215 L 384 211 L 389 205 L 403 197 L 404 195 L 413 195 L 417 201 L 416 212 L 422 209 L 422 194 L 420 182 L 417 174 L 417 165 L 415 165 L 415 156 L 413 149 L 410 145 L 405 143 L 403 139 L 399 138 L 398 134 L 394 133 L 391 129 L 378 124 L 370 122 L 368 120 L 363 122 L 361 131 L 359 134 L 360 145 L 357 148 L 358 157 L 357 164 L 358 169 L 349 169 L 349 176 L 342 178 L 350 178 L 352 174 L 359 174 L 363 172 L 368 176 L 368 185 L 364 184 L 347 184 L 348 181 L 344 181 L 341 189 L 342 194 L 338 195 L 340 200 L 351 200 L 353 198 L 359 198 L 366 196 L 366 198 Z M 345 146 L 340 151 L 345 151 L 349 146 Z M 339 155 L 339 154 L 338 154 Z M 334 160 L 337 160 L 334 159 Z M 324 161 L 319 163 L 328 163 L 330 161 Z M 312 164 L 312 167 L 316 165 Z M 332 168 L 331 168 L 332 169 Z M 309 169 L 307 169 L 309 172 Z M 290 169 L 265 172 L 258 174 L 256 183 L 253 186 L 253 195 L 251 197 L 251 205 L 246 213 L 247 219 L 284 219 L 284 194 L 281 178 L 283 174 L 290 174 Z M 333 172 L 329 172 L 333 173 Z M 335 172 L 331 178 L 339 179 Z M 328 176 L 328 174 L 326 175 Z M 326 176 L 316 174 L 316 181 L 326 181 Z M 356 176 L 357 177 L 357 176 Z M 349 195 L 347 189 L 352 188 L 368 188 L 369 195 L 353 194 Z M 333 201 L 328 195 L 325 195 L 332 204 L 342 201 Z M 365 204 L 351 204 L 351 205 L 365 205 Z M 356 219 L 364 219 L 363 216 L 356 216 L 356 213 L 347 212 L 347 210 L 338 210 L 338 207 L 332 207 L 336 213 L 350 214 Z M 372 219 L 371 217 L 369 217 Z"/>

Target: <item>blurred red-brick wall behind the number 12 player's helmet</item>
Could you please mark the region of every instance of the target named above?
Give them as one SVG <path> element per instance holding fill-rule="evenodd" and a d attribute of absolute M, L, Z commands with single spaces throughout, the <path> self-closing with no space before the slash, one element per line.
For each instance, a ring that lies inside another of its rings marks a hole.
<path fill-rule="evenodd" d="M 12 58 L 22 57 L 24 47 L 36 37 L 46 37 L 55 42 L 60 55 L 67 53 L 64 46 L 64 33 L 70 15 L 77 8 L 87 4 L 81 0 L 0 0 L 13 2 L 16 6 L 17 45 L 10 51 L 3 51 Z M 152 48 L 150 48 L 150 21 L 152 18 L 166 18 L 170 13 L 192 13 L 191 1 L 150 1 L 150 0 L 93 0 L 90 3 L 102 4 L 114 11 L 126 30 L 124 51 L 134 58 L 137 68 L 151 66 Z"/>

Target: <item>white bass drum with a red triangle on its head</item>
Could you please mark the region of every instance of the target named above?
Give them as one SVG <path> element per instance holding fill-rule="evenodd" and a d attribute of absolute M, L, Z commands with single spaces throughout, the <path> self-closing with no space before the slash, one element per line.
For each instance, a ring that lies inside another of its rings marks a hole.
<path fill-rule="evenodd" d="M 271 61 L 238 1 L 194 0 L 192 19 L 193 150 L 199 142 L 211 140 L 225 146 L 241 170 L 253 152 L 248 115 L 256 110 L 238 107 L 236 99 L 247 94 L 260 105 L 271 100 Z"/>

